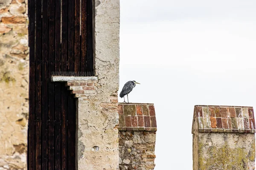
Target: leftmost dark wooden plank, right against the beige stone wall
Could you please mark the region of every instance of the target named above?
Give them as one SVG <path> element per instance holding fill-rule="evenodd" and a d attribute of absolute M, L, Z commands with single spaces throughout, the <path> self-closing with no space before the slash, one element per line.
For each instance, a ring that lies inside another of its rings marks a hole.
<path fill-rule="evenodd" d="M 35 0 L 29 6 L 29 140 L 28 170 L 35 169 Z"/>

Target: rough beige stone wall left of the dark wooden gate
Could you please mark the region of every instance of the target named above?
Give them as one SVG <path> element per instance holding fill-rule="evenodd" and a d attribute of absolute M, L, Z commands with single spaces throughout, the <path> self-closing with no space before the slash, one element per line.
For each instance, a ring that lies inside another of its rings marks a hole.
<path fill-rule="evenodd" d="M 26 169 L 27 0 L 0 0 L 0 170 Z"/>

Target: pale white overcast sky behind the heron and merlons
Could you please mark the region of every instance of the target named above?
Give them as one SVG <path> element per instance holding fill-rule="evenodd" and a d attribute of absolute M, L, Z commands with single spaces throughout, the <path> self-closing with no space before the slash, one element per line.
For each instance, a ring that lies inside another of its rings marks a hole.
<path fill-rule="evenodd" d="M 155 105 L 155 170 L 192 170 L 194 105 L 256 108 L 256 1 L 120 5 L 119 93 L 136 80 L 129 102 Z"/>

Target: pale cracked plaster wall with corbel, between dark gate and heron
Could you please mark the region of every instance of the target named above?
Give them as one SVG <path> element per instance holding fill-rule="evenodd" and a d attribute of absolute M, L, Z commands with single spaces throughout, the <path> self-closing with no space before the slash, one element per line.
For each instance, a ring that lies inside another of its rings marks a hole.
<path fill-rule="evenodd" d="M 95 0 L 94 43 L 96 77 L 52 81 L 67 82 L 78 98 L 78 170 L 115 170 L 119 168 L 119 0 Z"/>

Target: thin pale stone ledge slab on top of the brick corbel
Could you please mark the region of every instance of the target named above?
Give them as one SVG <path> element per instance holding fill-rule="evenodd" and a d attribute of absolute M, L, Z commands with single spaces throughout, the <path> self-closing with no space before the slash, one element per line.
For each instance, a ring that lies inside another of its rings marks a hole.
<path fill-rule="evenodd" d="M 88 81 L 98 80 L 98 77 L 75 77 L 75 76 L 52 76 L 52 82 L 68 82 L 68 81 Z"/>

